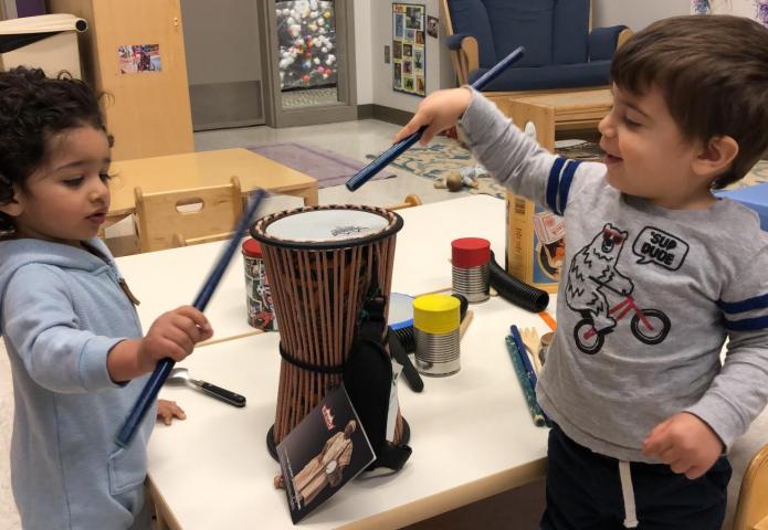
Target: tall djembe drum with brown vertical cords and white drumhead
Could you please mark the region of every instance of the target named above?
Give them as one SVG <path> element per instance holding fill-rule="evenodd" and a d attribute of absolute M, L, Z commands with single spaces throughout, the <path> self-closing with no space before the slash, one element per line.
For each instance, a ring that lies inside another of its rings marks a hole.
<path fill-rule="evenodd" d="M 324 205 L 266 215 L 251 229 L 271 279 L 283 357 L 275 423 L 266 436 L 273 457 L 341 382 L 366 297 L 378 292 L 388 304 L 401 227 L 402 218 L 388 210 Z M 398 411 L 393 442 L 406 443 L 403 437 L 408 427 Z"/>

